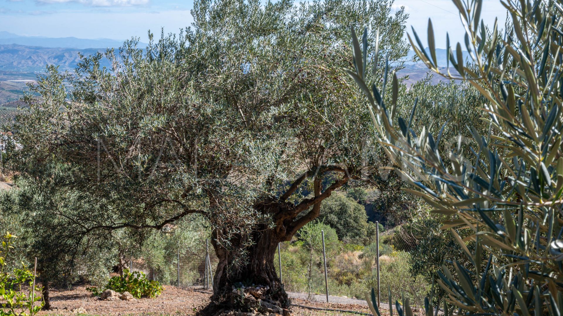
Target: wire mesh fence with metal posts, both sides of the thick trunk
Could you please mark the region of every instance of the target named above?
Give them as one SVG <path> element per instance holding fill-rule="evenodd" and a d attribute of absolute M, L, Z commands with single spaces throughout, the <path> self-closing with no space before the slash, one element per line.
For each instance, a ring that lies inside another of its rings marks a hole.
<path fill-rule="evenodd" d="M 411 305 L 418 305 L 430 285 L 412 277 L 409 250 L 415 241 L 399 228 L 378 232 L 376 241 L 367 246 L 338 241 L 323 231 L 308 241 L 280 243 L 276 272 L 293 299 L 366 304 L 365 293 L 374 288 L 383 307 L 389 303 L 388 291 L 393 302 L 409 297 Z M 150 260 L 139 260 L 133 261 L 133 270 L 163 284 L 212 290 L 218 259 L 205 241 L 200 243 L 195 249 L 178 247 L 164 267 L 152 268 Z"/>

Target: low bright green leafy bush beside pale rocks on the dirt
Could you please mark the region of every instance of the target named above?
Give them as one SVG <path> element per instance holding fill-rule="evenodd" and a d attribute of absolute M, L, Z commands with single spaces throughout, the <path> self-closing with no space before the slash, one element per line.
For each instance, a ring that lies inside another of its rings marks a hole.
<path fill-rule="evenodd" d="M 88 291 L 92 295 L 99 296 L 104 290 L 114 290 L 115 292 L 129 292 L 136 299 L 141 297 L 154 298 L 159 296 L 163 287 L 158 281 L 150 281 L 146 278 L 145 273 L 140 271 L 129 272 L 128 269 L 123 270 L 123 277 L 115 276 L 109 279 L 108 284 L 104 288 L 88 287 Z"/>

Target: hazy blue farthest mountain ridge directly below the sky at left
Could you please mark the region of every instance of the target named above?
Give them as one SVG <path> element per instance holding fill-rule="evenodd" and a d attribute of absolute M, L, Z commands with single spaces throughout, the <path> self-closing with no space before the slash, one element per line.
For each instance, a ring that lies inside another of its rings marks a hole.
<path fill-rule="evenodd" d="M 41 47 L 62 47 L 62 48 L 118 48 L 123 45 L 123 40 L 117 39 L 84 39 L 75 37 L 39 37 L 39 36 L 23 36 L 6 31 L 0 31 L 0 45 L 2 44 L 17 44 L 26 46 L 41 46 Z M 146 46 L 145 43 L 139 43 L 141 47 Z"/>

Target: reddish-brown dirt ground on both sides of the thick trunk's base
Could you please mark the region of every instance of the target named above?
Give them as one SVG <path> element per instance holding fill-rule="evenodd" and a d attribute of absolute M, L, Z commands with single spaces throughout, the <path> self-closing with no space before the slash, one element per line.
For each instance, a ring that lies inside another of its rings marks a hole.
<path fill-rule="evenodd" d="M 133 299 L 131 301 L 101 301 L 86 291 L 86 286 L 73 287 L 70 290 L 52 290 L 51 306 L 53 310 L 41 312 L 41 316 L 76 315 L 74 309 L 83 308 L 86 315 L 195 315 L 207 305 L 211 295 L 199 291 L 165 286 L 162 295 L 156 299 Z M 312 303 L 294 299 L 293 304 L 315 308 L 353 310 L 370 313 L 367 306 L 336 303 Z M 292 306 L 294 316 L 329 316 L 354 315 L 327 310 L 312 310 Z"/>

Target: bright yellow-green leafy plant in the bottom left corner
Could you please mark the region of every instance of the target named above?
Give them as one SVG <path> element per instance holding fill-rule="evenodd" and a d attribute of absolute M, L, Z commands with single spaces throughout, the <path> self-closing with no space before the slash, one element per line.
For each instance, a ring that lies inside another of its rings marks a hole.
<path fill-rule="evenodd" d="M 35 315 L 43 307 L 43 299 L 39 287 L 34 289 L 37 295 L 32 294 L 35 283 L 33 272 L 23 264 L 21 269 L 6 268 L 10 252 L 14 249 L 13 238 L 16 236 L 6 232 L 0 247 L 0 316 Z M 26 290 L 22 288 L 25 283 L 29 284 Z"/>

